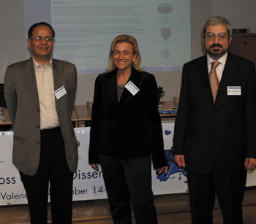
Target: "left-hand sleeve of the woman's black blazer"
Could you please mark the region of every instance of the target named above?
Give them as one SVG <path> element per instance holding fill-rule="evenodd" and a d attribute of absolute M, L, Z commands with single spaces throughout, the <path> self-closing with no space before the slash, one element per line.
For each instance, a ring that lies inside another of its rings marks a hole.
<path fill-rule="evenodd" d="M 89 144 L 89 163 L 99 163 L 99 154 L 97 152 L 97 143 L 99 142 L 100 126 L 103 119 L 102 107 L 102 81 L 100 76 L 95 80 L 94 85 L 94 103 L 91 110 L 91 131 Z"/>

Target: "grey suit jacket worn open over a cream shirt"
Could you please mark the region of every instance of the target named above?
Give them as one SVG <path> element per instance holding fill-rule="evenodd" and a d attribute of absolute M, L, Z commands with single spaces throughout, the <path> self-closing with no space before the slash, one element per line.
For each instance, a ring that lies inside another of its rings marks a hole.
<path fill-rule="evenodd" d="M 54 90 L 61 86 L 67 90 L 67 94 L 55 101 L 67 163 L 69 170 L 75 171 L 78 146 L 71 122 L 77 85 L 75 65 L 53 59 L 53 82 Z M 32 58 L 7 66 L 4 96 L 14 131 L 12 162 L 23 174 L 34 175 L 40 157 L 40 108 Z"/>

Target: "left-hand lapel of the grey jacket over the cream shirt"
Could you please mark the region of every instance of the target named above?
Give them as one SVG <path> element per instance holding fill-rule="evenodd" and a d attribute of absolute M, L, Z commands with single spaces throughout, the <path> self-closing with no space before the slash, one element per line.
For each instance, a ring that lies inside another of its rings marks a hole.
<path fill-rule="evenodd" d="M 28 63 L 26 64 L 23 81 L 27 91 L 29 92 L 29 96 L 31 97 L 34 104 L 37 105 L 37 108 L 39 108 L 37 80 L 36 80 L 36 74 L 34 72 L 34 63 L 33 63 L 32 57 L 29 59 Z"/>

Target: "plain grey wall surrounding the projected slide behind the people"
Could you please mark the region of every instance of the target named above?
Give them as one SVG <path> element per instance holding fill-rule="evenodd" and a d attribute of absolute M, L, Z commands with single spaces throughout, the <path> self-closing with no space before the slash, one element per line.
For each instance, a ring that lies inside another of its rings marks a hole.
<path fill-rule="evenodd" d="M 203 55 L 200 32 L 208 17 L 222 15 L 230 21 L 233 28 L 251 28 L 251 32 L 256 33 L 255 8 L 255 0 L 191 0 L 191 58 Z M 23 10 L 21 9 L 23 9 L 23 1 L 21 0 L 0 1 L 2 31 L 0 35 L 0 82 L 4 82 L 4 71 L 8 64 L 26 59 L 23 49 L 26 36 L 23 33 Z M 9 56 L 6 57 L 5 55 Z M 12 55 L 11 60 L 10 55 Z M 179 94 L 181 72 L 158 72 L 155 76 L 158 85 L 161 85 L 165 90 L 163 100 L 170 100 Z M 78 76 L 75 104 L 85 104 L 85 101 L 93 99 L 96 77 L 97 74 Z"/>

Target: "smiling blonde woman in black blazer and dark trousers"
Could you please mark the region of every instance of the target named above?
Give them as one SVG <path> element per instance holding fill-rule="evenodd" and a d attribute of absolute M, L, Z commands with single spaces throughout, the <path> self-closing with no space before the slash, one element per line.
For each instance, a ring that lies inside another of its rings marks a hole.
<path fill-rule="evenodd" d="M 110 68 L 99 74 L 91 113 L 89 163 L 102 167 L 114 223 L 157 223 L 151 190 L 151 158 L 157 173 L 167 172 L 157 82 L 140 69 L 133 36 L 117 36 Z"/>

